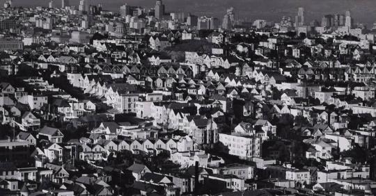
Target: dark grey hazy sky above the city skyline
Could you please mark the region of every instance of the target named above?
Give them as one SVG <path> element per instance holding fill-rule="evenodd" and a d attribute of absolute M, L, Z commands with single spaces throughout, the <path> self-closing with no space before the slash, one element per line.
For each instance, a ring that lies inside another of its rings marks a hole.
<path fill-rule="evenodd" d="M 55 0 L 60 3 L 60 0 Z M 143 6 L 151 8 L 155 0 L 89 0 L 102 3 L 104 9 L 118 11 L 121 5 Z M 306 22 L 313 19 L 320 21 L 322 15 L 343 13 L 350 10 L 355 22 L 372 24 L 376 22 L 376 0 L 162 0 L 166 11 L 183 11 L 195 15 L 209 15 L 221 19 L 230 6 L 235 8 L 237 18 L 267 19 L 279 22 L 282 16 L 297 15 L 297 8 L 305 10 Z M 13 0 L 14 6 L 47 6 L 49 0 Z M 77 5 L 79 0 L 70 0 L 71 5 Z M 111 2 L 111 3 L 109 3 Z"/>

